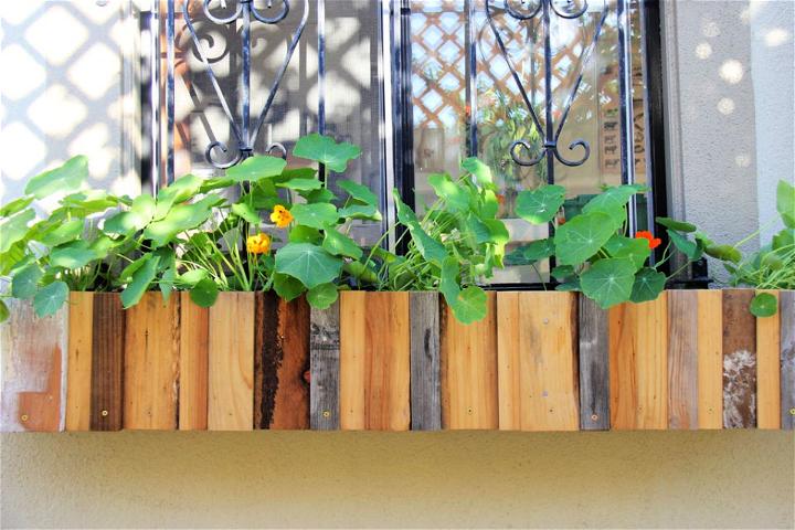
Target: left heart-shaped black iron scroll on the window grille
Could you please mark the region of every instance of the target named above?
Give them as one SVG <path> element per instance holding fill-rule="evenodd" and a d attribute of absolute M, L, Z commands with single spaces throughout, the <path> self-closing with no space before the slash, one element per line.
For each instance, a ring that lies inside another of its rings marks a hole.
<path fill-rule="evenodd" d="M 219 84 L 218 77 L 215 76 L 215 72 L 212 68 L 212 65 L 210 64 L 210 60 L 208 59 L 206 54 L 202 51 L 201 41 L 199 38 L 199 34 L 193 25 L 193 21 L 191 20 L 190 10 L 189 10 L 189 3 L 190 0 L 186 0 L 182 9 L 182 17 L 186 23 L 186 26 L 188 28 L 188 31 L 191 35 L 191 39 L 193 41 L 195 53 L 199 56 L 199 60 L 202 62 L 204 66 L 204 72 L 206 73 L 210 83 L 212 84 L 213 89 L 215 91 L 215 95 L 219 98 L 219 102 L 221 103 L 221 107 L 223 108 L 224 114 L 226 115 L 226 119 L 230 124 L 232 135 L 234 137 L 234 140 L 236 141 L 236 145 L 234 146 L 227 146 L 226 144 L 213 140 L 204 150 L 204 158 L 206 161 L 212 165 L 214 168 L 218 169 L 225 169 L 231 168 L 232 166 L 235 166 L 236 163 L 241 162 L 242 160 L 245 160 L 246 158 L 251 157 L 254 151 L 254 146 L 257 140 L 257 136 L 259 134 L 259 129 L 262 129 L 263 125 L 265 124 L 265 120 L 267 119 L 268 112 L 271 110 L 271 106 L 273 105 L 274 98 L 276 97 L 276 93 L 278 92 L 279 84 L 282 83 L 282 80 L 284 78 L 285 72 L 287 71 L 287 67 L 289 65 L 290 60 L 293 59 L 293 54 L 296 50 L 296 46 L 298 45 L 298 41 L 301 38 L 301 34 L 304 33 L 304 29 L 306 28 L 307 20 L 309 18 L 309 0 L 298 0 L 300 3 L 304 4 L 304 12 L 301 14 L 301 19 L 298 22 L 298 25 L 293 30 L 293 34 L 289 40 L 289 44 L 287 45 L 287 51 L 285 53 L 284 60 L 282 61 L 282 65 L 279 66 L 278 71 L 276 72 L 276 75 L 272 82 L 271 91 L 267 94 L 267 97 L 265 99 L 265 104 L 259 112 L 259 115 L 252 125 L 252 116 L 251 116 L 251 104 L 252 104 L 252 95 L 251 95 L 251 70 L 252 70 L 252 61 L 251 61 L 251 28 L 252 24 L 255 22 L 259 22 L 263 24 L 279 24 L 282 23 L 286 18 L 287 14 L 290 12 L 292 6 L 290 0 L 267 0 L 266 9 L 267 12 L 264 13 L 261 11 L 261 9 L 257 9 L 254 6 L 253 0 L 239 0 L 237 7 L 235 11 L 232 14 L 220 17 L 218 14 L 213 13 L 213 10 L 210 7 L 210 3 L 212 0 L 199 0 L 203 2 L 203 12 L 208 20 L 210 20 L 214 24 L 236 24 L 237 21 L 242 21 L 241 24 L 241 50 L 242 50 L 242 67 L 241 67 L 241 84 L 242 84 L 242 112 L 241 116 L 235 116 L 233 112 L 230 108 L 230 105 L 226 100 L 226 97 L 224 96 L 223 91 L 221 89 L 221 86 Z M 226 0 L 221 1 L 222 8 L 226 8 Z M 273 10 L 273 11 L 272 11 Z M 171 13 L 170 13 L 171 14 Z M 269 14 L 266 15 L 266 14 Z M 170 30 L 172 31 L 173 20 L 172 17 L 169 17 L 169 25 Z M 169 41 L 169 45 L 172 45 L 171 41 Z M 170 64 L 173 64 L 172 61 L 170 61 Z M 169 72 L 169 85 L 170 89 L 172 91 L 172 74 Z M 169 108 L 169 112 L 172 112 L 172 108 Z M 171 117 L 169 117 L 171 118 Z M 171 121 L 171 119 L 169 119 Z M 221 151 L 224 155 L 227 155 L 225 159 L 222 159 L 219 151 Z M 230 151 L 232 151 L 232 155 L 230 156 Z M 274 153 L 278 152 L 279 156 L 283 158 L 287 157 L 287 149 L 285 146 L 278 141 L 272 142 L 268 145 L 265 149 L 266 152 Z"/>

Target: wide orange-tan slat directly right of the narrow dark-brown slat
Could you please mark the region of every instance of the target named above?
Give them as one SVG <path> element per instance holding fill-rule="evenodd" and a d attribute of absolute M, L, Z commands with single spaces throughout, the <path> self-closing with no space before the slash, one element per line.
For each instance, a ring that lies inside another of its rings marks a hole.
<path fill-rule="evenodd" d="M 124 427 L 177 428 L 180 297 L 146 293 L 127 309 L 124 360 Z M 234 321 L 234 320 L 232 320 Z"/>

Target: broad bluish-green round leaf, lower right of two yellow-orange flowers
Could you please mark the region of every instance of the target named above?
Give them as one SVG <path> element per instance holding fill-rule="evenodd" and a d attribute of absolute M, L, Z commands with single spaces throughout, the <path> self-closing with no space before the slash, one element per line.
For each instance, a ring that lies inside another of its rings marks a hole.
<path fill-rule="evenodd" d="M 276 252 L 276 272 L 299 279 L 308 289 L 335 280 L 342 259 L 310 243 L 288 243 Z"/>

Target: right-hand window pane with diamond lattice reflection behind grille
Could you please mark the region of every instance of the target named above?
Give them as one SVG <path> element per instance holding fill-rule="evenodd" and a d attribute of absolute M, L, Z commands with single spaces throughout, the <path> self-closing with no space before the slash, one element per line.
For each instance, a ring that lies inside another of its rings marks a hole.
<path fill-rule="evenodd" d="M 585 12 L 573 19 L 551 12 L 549 62 L 544 60 L 541 12 L 528 20 L 519 20 L 510 15 L 505 1 L 491 0 L 490 24 L 485 0 L 471 1 L 471 7 L 465 0 L 412 2 L 417 205 L 433 200 L 433 192 L 427 184 L 430 173 L 458 171 L 460 159 L 469 153 L 467 134 L 469 121 L 474 120 L 477 130 L 476 153 L 495 173 L 500 188 L 500 215 L 516 242 L 511 247 L 516 247 L 549 235 L 547 226 L 531 226 L 517 219 L 515 208 L 517 194 L 547 182 L 550 171 L 553 172 L 554 182 L 568 189 L 561 221 L 579 212 L 602 187 L 621 183 L 616 1 L 591 1 Z M 566 15 L 585 8 L 582 1 L 551 3 Z M 635 3 L 632 20 L 636 181 L 646 182 L 644 65 L 640 20 Z M 527 15 L 540 2 L 510 0 L 508 4 Z M 505 43 L 507 57 L 500 51 L 495 31 Z M 598 39 L 593 47 L 597 32 Z M 473 35 L 474 46 L 468 46 L 468 35 Z M 477 68 L 469 81 L 467 53 L 471 47 L 475 49 Z M 592 53 L 590 60 L 589 53 Z M 511 145 L 516 140 L 527 141 L 529 148 L 516 150 L 519 158 L 529 161 L 543 156 L 547 64 L 551 73 L 549 112 L 553 134 L 565 118 L 558 140 L 561 158 L 572 162 L 585 158 L 582 147 L 570 149 L 569 146 L 576 141 L 583 140 L 590 148 L 587 158 L 577 166 L 569 167 L 555 161 L 550 168 L 543 159 L 540 163 L 526 167 L 516 163 L 511 157 Z M 536 113 L 541 131 L 534 126 L 536 121 L 511 74 L 511 65 Z M 467 106 L 468 87 L 476 91 L 474 109 Z M 643 227 L 646 220 L 645 199 L 638 202 L 638 219 Z M 539 271 L 530 266 L 513 266 L 499 273 L 495 280 L 538 282 L 537 273 L 540 273 L 541 279 L 548 280 L 548 268 L 545 264 Z"/>

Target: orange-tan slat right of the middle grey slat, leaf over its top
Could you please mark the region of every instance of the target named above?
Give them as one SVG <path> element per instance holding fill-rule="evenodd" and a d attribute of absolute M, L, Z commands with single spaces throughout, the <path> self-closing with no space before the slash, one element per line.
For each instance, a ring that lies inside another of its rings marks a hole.
<path fill-rule="evenodd" d="M 470 325 L 458 322 L 443 304 L 442 426 L 498 428 L 497 295 L 488 293 L 488 314 Z"/>

